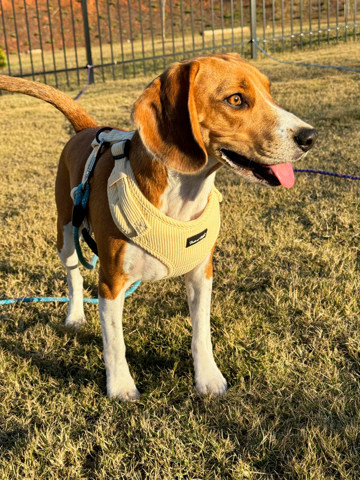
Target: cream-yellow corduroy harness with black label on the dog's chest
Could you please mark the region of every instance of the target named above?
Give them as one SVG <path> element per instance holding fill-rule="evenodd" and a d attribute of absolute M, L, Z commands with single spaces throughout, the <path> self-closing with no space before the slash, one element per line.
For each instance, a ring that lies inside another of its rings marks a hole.
<path fill-rule="evenodd" d="M 166 265 L 167 277 L 181 275 L 201 263 L 215 244 L 221 194 L 213 187 L 204 211 L 195 220 L 179 221 L 164 215 L 142 194 L 126 157 L 126 140 L 133 134 L 111 130 L 98 135 L 111 145 L 115 161 L 107 182 L 112 219 L 127 238 Z M 98 147 L 97 138 L 91 145 L 94 150 Z"/>

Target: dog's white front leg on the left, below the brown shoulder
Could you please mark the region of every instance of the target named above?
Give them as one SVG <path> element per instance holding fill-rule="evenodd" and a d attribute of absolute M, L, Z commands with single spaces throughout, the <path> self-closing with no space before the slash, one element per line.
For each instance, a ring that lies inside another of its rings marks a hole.
<path fill-rule="evenodd" d="M 130 374 L 125 358 L 125 342 L 122 333 L 122 309 L 125 285 L 114 299 L 101 296 L 99 282 L 99 315 L 101 321 L 103 356 L 106 365 L 107 396 L 121 400 L 138 398 L 140 393 Z"/>

